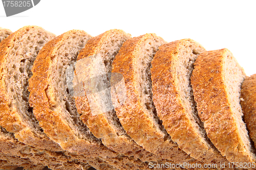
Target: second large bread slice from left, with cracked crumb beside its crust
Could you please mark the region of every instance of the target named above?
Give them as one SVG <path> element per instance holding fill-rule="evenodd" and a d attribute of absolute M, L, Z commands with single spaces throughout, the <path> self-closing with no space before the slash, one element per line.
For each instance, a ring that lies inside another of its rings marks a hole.
<path fill-rule="evenodd" d="M 29 80 L 29 102 L 39 125 L 53 141 L 72 152 L 82 149 L 81 145 L 75 145 L 69 140 L 79 136 L 83 141 L 83 138 L 93 136 L 79 121 L 72 96 L 69 95 L 67 85 L 65 87 L 66 69 L 73 65 L 78 52 L 90 38 L 89 34 L 79 30 L 58 36 L 38 54 L 32 69 L 33 76 Z M 60 118 L 65 118 L 67 128 L 58 123 Z"/>

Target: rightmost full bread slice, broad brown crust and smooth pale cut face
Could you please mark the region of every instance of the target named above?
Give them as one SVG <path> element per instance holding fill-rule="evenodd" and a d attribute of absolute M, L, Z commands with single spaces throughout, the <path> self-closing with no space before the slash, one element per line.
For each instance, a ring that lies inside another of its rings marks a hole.
<path fill-rule="evenodd" d="M 200 54 L 191 76 L 207 136 L 227 160 L 235 163 L 256 160 L 240 106 L 244 78 L 243 68 L 226 48 Z"/>

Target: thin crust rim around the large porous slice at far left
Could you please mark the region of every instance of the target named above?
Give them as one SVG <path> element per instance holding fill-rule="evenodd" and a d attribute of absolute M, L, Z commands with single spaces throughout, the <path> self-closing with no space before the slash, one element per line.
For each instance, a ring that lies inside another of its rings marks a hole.
<path fill-rule="evenodd" d="M 2 69 L 6 61 L 10 50 L 13 47 L 14 41 L 26 34 L 29 30 L 41 31 L 49 34 L 50 37 L 54 37 L 53 34 L 46 32 L 44 29 L 37 26 L 27 26 L 12 33 L 8 38 L 4 39 L 0 44 L 0 68 Z M 7 92 L 5 91 L 5 75 L 1 75 L 0 80 L 0 125 L 2 125 L 7 131 L 15 134 L 15 137 L 20 141 L 33 145 L 34 147 L 41 149 L 49 149 L 59 151 L 58 144 L 50 140 L 47 136 L 35 134 L 30 126 L 25 122 L 22 115 L 16 110 L 10 110 L 10 100 Z"/>

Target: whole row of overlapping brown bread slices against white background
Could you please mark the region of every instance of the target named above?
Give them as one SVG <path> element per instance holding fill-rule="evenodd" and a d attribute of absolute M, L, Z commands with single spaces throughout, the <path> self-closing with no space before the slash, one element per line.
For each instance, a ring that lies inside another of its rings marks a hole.
<path fill-rule="evenodd" d="M 0 68 L 0 169 L 256 169 L 256 78 L 226 48 L 0 28 Z"/>

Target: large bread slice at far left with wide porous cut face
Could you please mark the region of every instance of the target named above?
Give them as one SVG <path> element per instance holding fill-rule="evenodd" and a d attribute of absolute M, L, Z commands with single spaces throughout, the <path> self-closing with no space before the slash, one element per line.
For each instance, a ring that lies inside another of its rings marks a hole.
<path fill-rule="evenodd" d="M 39 149 L 59 151 L 39 127 L 27 90 L 31 67 L 44 44 L 54 38 L 50 32 L 27 26 L 14 32 L 0 43 L 0 125 L 26 144 Z"/>

